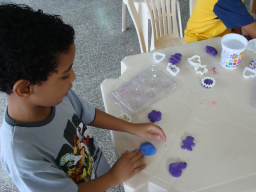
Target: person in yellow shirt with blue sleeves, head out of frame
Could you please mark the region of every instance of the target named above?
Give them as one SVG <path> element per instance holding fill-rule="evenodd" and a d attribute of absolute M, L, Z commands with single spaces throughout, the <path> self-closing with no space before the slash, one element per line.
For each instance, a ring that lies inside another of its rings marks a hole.
<path fill-rule="evenodd" d="M 256 22 L 244 5 L 244 0 L 197 0 L 185 30 L 185 43 L 206 40 L 228 33 L 256 38 Z"/>

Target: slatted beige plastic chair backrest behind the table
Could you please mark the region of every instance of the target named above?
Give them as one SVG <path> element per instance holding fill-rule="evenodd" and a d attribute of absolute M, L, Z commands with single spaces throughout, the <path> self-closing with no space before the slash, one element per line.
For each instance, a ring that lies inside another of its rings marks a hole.
<path fill-rule="evenodd" d="M 176 19 L 176 0 L 144 0 L 152 26 L 150 50 L 173 38 L 179 38 Z"/>

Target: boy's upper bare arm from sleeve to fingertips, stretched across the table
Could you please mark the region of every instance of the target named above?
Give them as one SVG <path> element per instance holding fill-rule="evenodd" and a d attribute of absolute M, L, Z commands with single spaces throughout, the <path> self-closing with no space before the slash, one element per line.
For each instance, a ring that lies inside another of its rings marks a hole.
<path fill-rule="evenodd" d="M 95 120 L 90 124 L 90 126 L 127 132 L 140 137 L 150 137 L 156 139 L 162 138 L 164 142 L 166 141 L 166 136 L 162 128 L 154 125 L 153 123 L 130 123 L 98 109 L 96 109 Z"/>

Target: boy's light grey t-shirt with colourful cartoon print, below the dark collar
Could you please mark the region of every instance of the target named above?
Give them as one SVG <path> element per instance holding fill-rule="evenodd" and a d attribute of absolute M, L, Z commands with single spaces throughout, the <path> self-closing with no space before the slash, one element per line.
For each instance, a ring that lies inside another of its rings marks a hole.
<path fill-rule="evenodd" d="M 42 122 L 20 123 L 7 112 L 0 128 L 1 162 L 21 192 L 76 192 L 76 184 L 110 166 L 85 125 L 96 110 L 70 90 Z"/>

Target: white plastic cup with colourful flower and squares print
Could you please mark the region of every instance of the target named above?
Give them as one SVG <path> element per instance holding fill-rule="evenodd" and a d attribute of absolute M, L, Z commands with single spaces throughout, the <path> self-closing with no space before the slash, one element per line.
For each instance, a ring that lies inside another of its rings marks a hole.
<path fill-rule="evenodd" d="M 220 64 L 226 69 L 236 69 L 242 60 L 248 40 L 239 34 L 230 33 L 221 38 Z"/>

